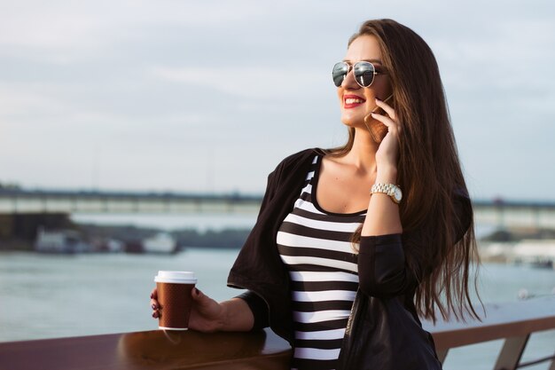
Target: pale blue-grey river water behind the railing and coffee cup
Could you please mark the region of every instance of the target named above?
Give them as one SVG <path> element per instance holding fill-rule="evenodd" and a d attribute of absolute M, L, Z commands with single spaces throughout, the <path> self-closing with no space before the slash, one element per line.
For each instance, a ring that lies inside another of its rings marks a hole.
<path fill-rule="evenodd" d="M 0 253 L 0 342 L 156 329 L 149 295 L 158 270 L 195 271 L 199 289 L 223 300 L 241 292 L 226 287 L 237 253 L 206 248 L 175 256 Z M 547 295 L 555 287 L 555 271 L 484 264 L 480 286 L 484 303 L 516 301 L 521 289 Z M 501 345 L 494 341 L 450 350 L 444 368 L 491 369 Z M 532 335 L 524 359 L 554 351 L 555 331 Z"/>

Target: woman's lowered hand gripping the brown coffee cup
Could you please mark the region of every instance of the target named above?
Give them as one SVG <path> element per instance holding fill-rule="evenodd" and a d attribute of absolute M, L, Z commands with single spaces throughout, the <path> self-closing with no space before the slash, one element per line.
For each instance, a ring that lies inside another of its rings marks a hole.
<path fill-rule="evenodd" d="M 189 327 L 199 332 L 211 333 L 223 327 L 225 318 L 224 307 L 214 299 L 204 295 L 194 287 L 191 291 L 192 308 Z M 158 319 L 164 314 L 164 308 L 158 302 L 158 290 L 152 289 L 151 294 L 152 318 Z"/>

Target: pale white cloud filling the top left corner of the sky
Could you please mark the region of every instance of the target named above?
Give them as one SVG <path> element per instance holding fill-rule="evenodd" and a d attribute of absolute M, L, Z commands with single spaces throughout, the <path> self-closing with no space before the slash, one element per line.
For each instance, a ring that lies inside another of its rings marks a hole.
<path fill-rule="evenodd" d="M 236 12 L 241 9 L 241 12 Z M 254 2 L 26 1 L 3 4 L 0 55 L 71 64 L 164 30 L 222 29 L 267 15 Z"/>

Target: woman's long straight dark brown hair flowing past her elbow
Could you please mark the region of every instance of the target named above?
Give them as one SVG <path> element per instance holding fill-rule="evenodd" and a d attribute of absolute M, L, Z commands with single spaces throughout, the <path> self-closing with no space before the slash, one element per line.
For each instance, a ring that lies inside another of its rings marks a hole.
<path fill-rule="evenodd" d="M 403 189 L 403 234 L 418 235 L 417 242 L 404 246 L 408 267 L 421 277 L 415 293 L 418 314 L 434 322 L 436 310 L 443 319 L 451 314 L 465 319 L 467 313 L 480 319 L 469 294 L 471 281 L 477 295 L 480 264 L 472 206 L 466 202 L 467 216 L 461 219 L 457 196 L 467 194 L 465 178 L 434 53 L 419 35 L 395 20 L 364 22 L 348 45 L 361 35 L 378 40 L 393 88 L 395 115 L 403 127 L 397 180 Z M 348 154 L 355 132 L 348 128 L 347 143 L 326 153 Z M 360 240 L 360 230 L 355 241 Z"/>

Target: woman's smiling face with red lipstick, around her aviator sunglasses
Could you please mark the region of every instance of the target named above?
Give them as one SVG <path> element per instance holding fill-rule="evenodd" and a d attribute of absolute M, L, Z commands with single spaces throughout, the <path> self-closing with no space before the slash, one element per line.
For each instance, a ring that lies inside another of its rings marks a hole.
<path fill-rule="evenodd" d="M 370 61 L 378 72 L 383 72 L 381 51 L 376 37 L 361 35 L 349 45 L 344 61 L 353 66 L 357 61 Z M 365 128 L 364 117 L 376 108 L 375 98 L 384 100 L 392 93 L 388 75 L 374 75 L 374 81 L 367 88 L 355 81 L 353 70 L 348 73 L 337 89 L 340 98 L 341 122 L 356 128 Z M 389 101 L 387 101 L 389 103 Z M 375 121 L 369 119 L 367 122 Z M 372 122 L 376 123 L 376 122 Z"/>

